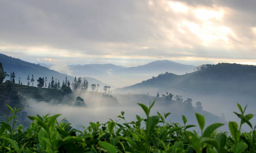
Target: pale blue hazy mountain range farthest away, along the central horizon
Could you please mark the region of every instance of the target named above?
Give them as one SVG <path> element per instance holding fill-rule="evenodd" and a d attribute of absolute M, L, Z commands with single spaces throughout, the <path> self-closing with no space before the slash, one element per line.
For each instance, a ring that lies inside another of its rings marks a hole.
<path fill-rule="evenodd" d="M 51 69 L 52 65 L 40 64 Z M 54 67 L 52 67 L 54 69 Z M 114 64 L 85 64 L 68 65 L 72 76 L 89 76 L 107 82 L 115 87 L 132 85 L 148 79 L 159 73 L 172 72 L 175 74 L 185 74 L 194 71 L 195 66 L 185 65 L 169 60 L 154 61 L 137 67 L 124 67 Z M 65 70 L 64 69 L 64 70 Z"/>

